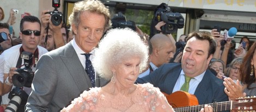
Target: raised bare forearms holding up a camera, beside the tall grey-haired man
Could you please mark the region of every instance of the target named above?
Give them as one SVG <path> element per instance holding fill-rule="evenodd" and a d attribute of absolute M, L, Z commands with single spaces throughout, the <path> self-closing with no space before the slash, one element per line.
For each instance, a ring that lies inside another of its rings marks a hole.
<path fill-rule="evenodd" d="M 47 29 L 49 29 L 52 32 L 55 47 L 59 48 L 59 47 L 65 45 L 64 39 L 62 37 L 62 32 L 61 32 L 62 23 L 60 23 L 58 26 L 53 24 L 51 21 L 52 16 L 49 12 L 51 12 L 51 11 L 44 10 L 41 13 L 41 25 L 42 25 L 41 26 L 41 36 L 40 36 L 41 46 L 46 48 L 46 42 L 47 42 L 48 38 L 46 38 L 44 36 L 44 33 L 47 32 Z"/>

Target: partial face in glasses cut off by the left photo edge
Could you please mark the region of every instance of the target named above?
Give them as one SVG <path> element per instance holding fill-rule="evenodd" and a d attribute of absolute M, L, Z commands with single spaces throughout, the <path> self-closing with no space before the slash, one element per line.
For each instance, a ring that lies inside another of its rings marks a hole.
<path fill-rule="evenodd" d="M 7 28 L 1 28 L 0 32 L 5 32 L 8 35 L 7 40 L 0 43 L 1 47 L 5 50 L 11 47 L 11 35 L 9 32 L 9 29 Z"/>

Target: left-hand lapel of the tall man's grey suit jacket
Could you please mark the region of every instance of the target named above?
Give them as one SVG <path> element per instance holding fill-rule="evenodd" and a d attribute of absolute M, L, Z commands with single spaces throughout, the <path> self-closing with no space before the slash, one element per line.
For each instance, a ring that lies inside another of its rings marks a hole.
<path fill-rule="evenodd" d="M 92 88 L 92 83 L 90 83 L 88 74 L 78 59 L 78 56 L 74 47 L 71 45 L 71 42 L 66 45 L 64 55 L 61 55 L 61 58 L 71 76 L 73 77 L 77 87 L 81 91 L 89 90 L 89 88 Z"/>

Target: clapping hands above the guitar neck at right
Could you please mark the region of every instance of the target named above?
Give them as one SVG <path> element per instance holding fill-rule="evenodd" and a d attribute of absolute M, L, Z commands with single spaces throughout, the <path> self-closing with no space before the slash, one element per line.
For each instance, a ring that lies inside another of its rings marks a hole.
<path fill-rule="evenodd" d="M 231 78 L 224 78 L 223 82 L 225 89 L 225 94 L 228 95 L 230 100 L 234 100 L 239 97 L 245 97 L 246 94 L 243 92 L 243 86 L 240 84 L 239 80 L 234 82 Z"/>

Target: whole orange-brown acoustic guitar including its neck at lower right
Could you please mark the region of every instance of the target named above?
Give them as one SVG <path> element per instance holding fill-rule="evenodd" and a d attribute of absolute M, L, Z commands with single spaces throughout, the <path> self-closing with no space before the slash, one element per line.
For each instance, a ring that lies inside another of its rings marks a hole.
<path fill-rule="evenodd" d="M 204 108 L 203 105 L 198 105 L 197 97 L 184 91 L 176 91 L 173 94 L 166 94 L 167 101 L 176 112 L 179 111 L 200 111 Z M 225 101 L 225 102 L 214 102 L 211 104 L 214 111 L 225 111 L 225 110 L 235 110 L 235 111 L 255 111 L 256 110 L 256 96 L 247 98 L 237 98 L 235 101 Z"/>

